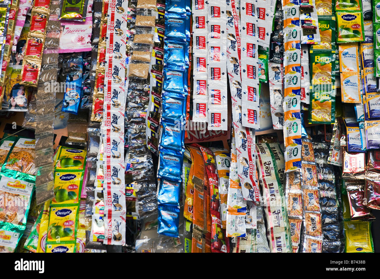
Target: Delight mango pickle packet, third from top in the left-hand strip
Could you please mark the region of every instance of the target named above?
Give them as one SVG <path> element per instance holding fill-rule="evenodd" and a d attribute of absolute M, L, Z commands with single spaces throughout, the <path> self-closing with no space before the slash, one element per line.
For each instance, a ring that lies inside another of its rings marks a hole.
<path fill-rule="evenodd" d="M 78 206 L 50 208 L 47 244 L 49 242 L 65 243 L 65 241 L 74 241 L 75 243 L 77 213 Z"/>

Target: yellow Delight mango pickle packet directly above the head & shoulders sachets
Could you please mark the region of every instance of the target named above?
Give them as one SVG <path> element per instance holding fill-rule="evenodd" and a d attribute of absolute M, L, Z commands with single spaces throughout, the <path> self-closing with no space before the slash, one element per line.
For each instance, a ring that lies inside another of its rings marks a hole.
<path fill-rule="evenodd" d="M 363 42 L 364 22 L 361 11 L 336 12 L 338 37 L 337 43 Z"/>

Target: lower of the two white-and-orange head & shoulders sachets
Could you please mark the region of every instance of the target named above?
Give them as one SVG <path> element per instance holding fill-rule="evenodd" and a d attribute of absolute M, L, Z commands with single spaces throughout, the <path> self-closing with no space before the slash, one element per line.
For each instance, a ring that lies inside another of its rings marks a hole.
<path fill-rule="evenodd" d="M 361 103 L 360 79 L 358 73 L 341 73 L 340 88 L 342 92 L 342 102 Z"/>

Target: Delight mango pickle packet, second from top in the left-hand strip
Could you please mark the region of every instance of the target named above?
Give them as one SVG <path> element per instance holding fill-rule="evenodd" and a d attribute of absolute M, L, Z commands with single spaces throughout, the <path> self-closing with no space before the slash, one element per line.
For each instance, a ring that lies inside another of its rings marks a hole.
<path fill-rule="evenodd" d="M 52 205 L 79 203 L 82 189 L 82 173 L 82 171 L 55 172 Z"/>

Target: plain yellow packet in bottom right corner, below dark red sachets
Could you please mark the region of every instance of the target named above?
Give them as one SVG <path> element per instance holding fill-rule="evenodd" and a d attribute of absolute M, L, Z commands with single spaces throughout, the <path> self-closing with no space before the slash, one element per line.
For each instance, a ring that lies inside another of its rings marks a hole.
<path fill-rule="evenodd" d="M 344 222 L 347 253 L 373 253 L 374 243 L 371 234 L 371 222 Z"/>

